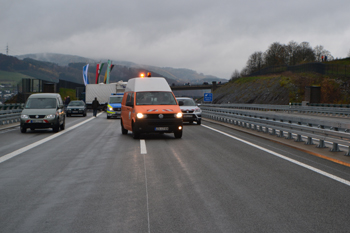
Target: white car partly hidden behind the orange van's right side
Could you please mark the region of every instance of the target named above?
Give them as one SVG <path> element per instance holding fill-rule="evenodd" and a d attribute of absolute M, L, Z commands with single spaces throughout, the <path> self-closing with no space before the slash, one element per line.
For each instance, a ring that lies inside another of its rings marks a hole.
<path fill-rule="evenodd" d="M 183 104 L 180 104 L 180 109 L 182 111 L 183 122 L 193 123 L 197 122 L 197 125 L 201 124 L 202 121 L 202 110 L 198 107 L 196 102 L 189 97 L 177 97 L 177 101 L 180 101 Z"/>

